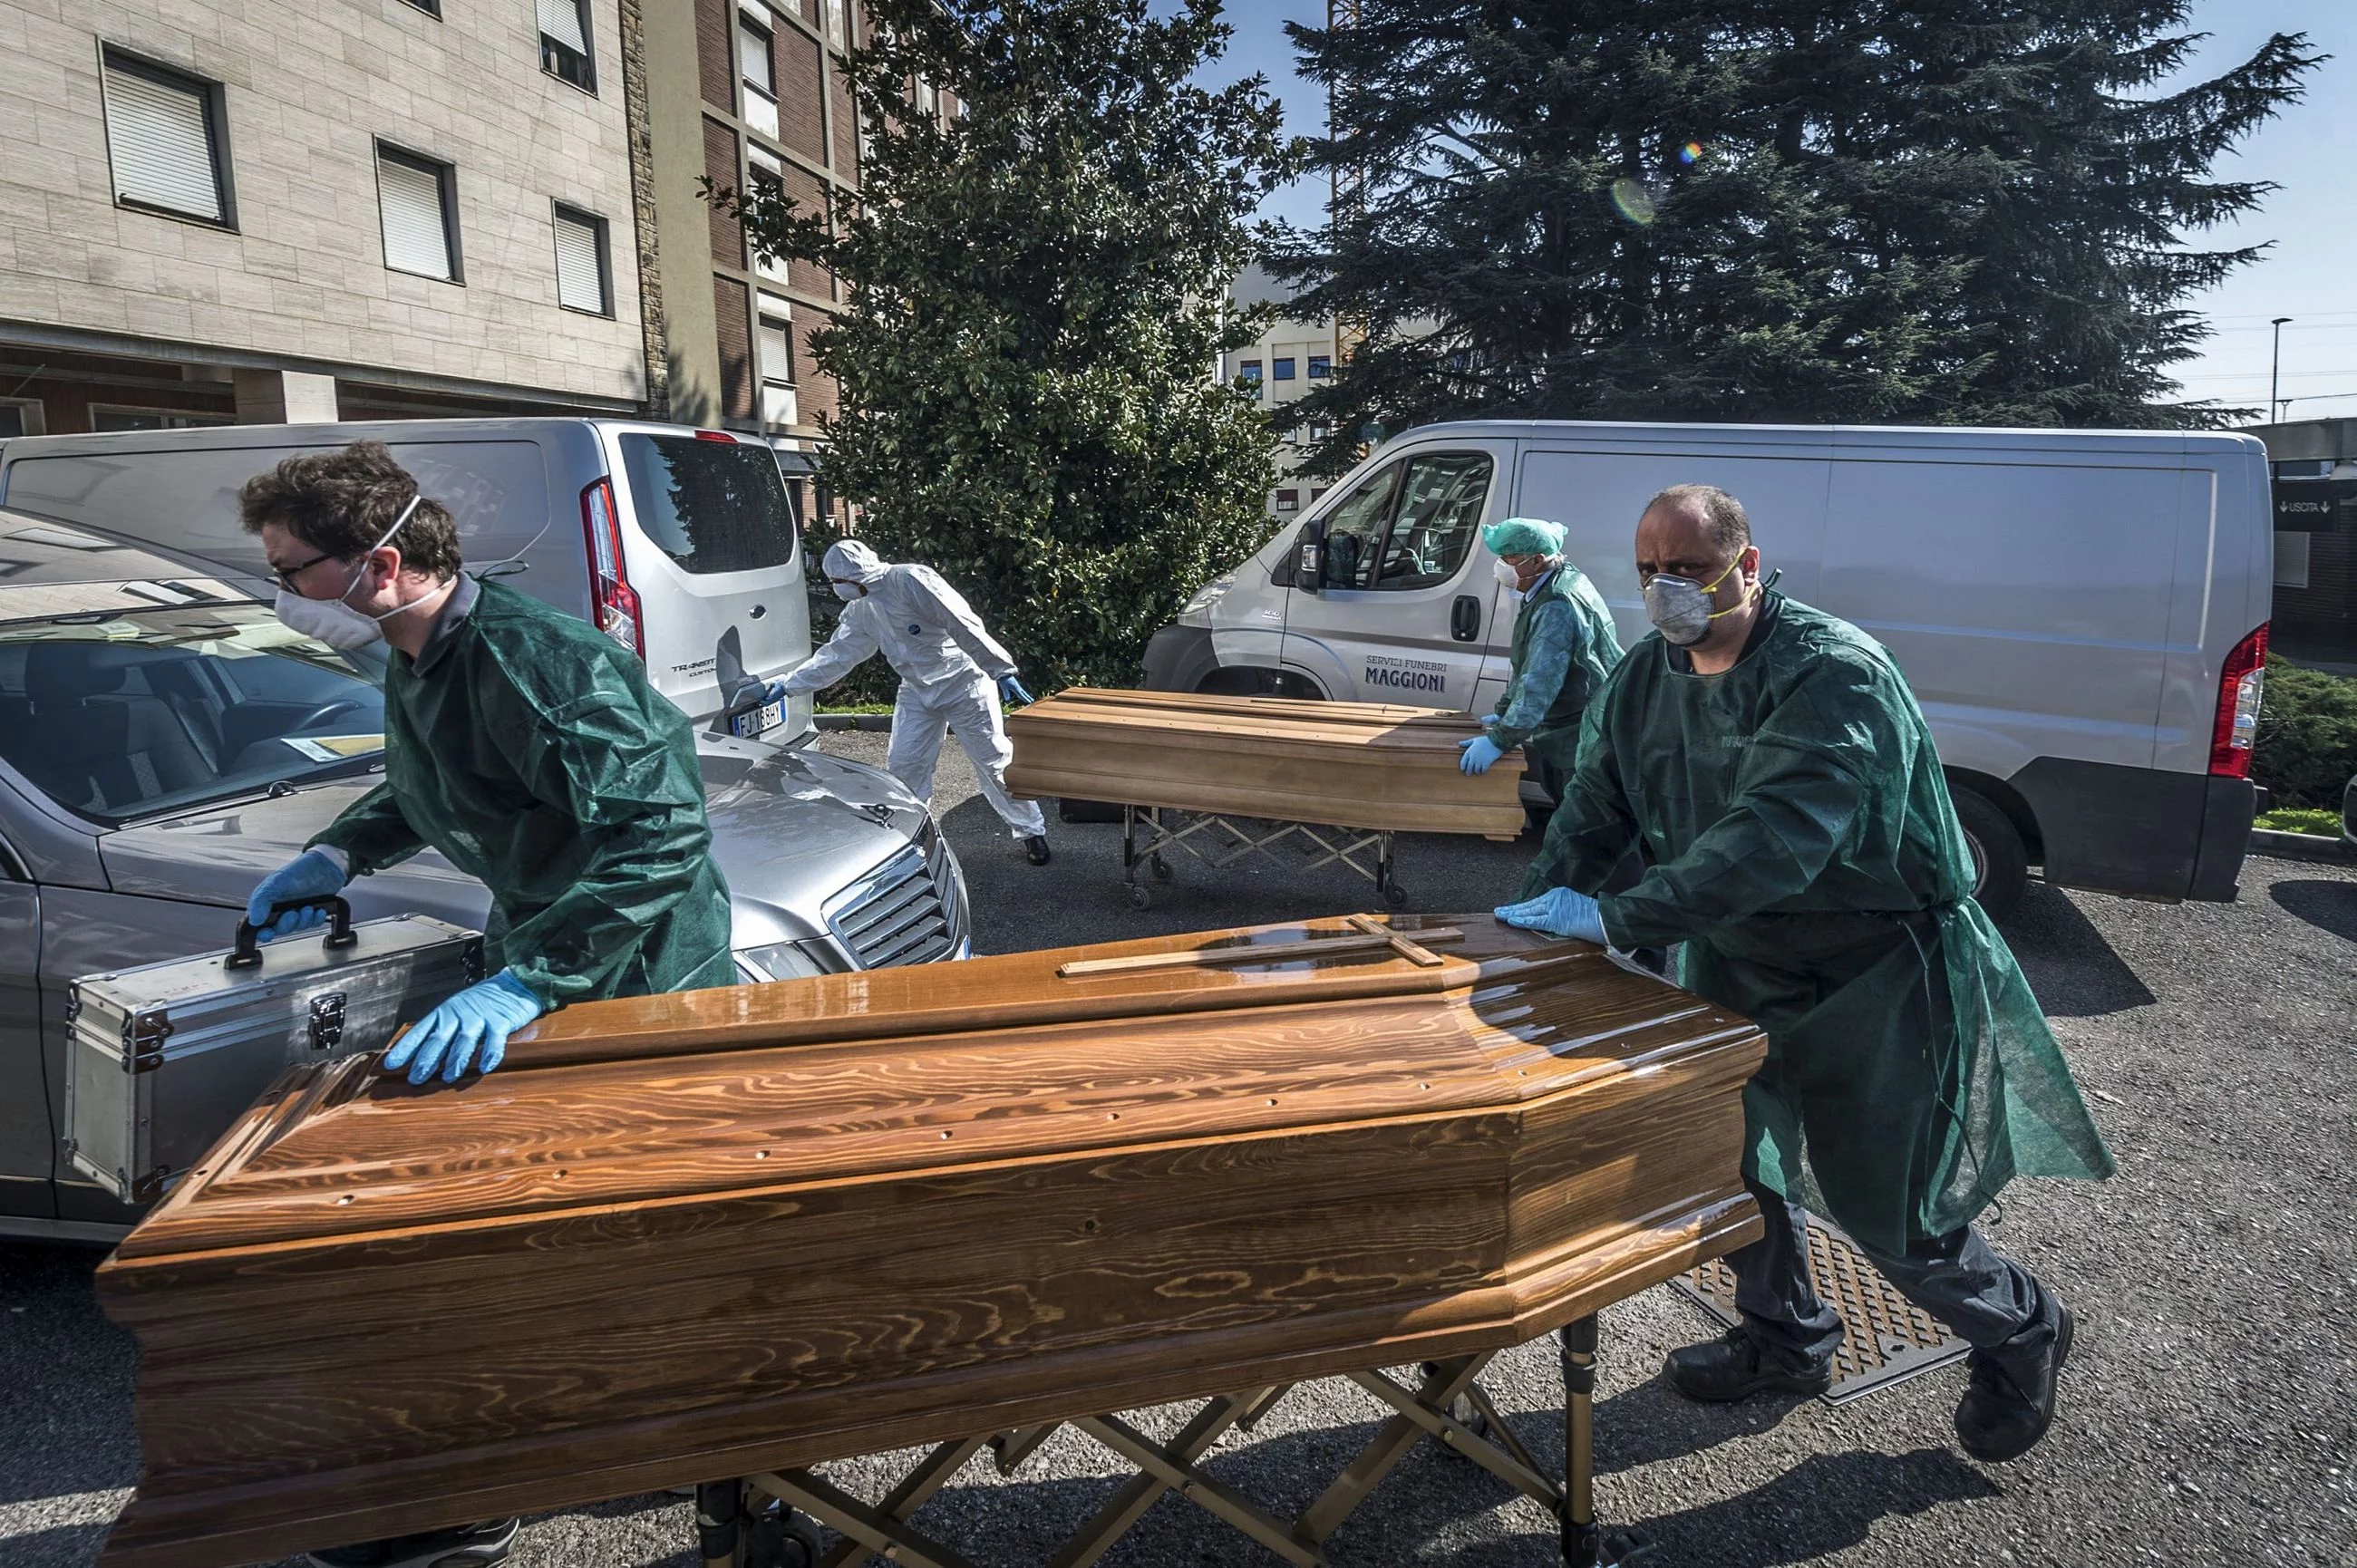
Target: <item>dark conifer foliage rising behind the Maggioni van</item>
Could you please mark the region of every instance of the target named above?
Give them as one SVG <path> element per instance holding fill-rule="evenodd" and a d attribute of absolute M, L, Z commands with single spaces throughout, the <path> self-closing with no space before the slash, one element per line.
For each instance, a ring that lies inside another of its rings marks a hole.
<path fill-rule="evenodd" d="M 1365 323 L 1292 410 L 2154 427 L 2183 309 L 2256 255 L 2180 236 L 2270 186 L 2216 156 L 2319 59 L 2138 97 L 2185 0 L 1365 0 L 1294 26 L 1362 210 L 1287 233 L 1299 314 Z"/>

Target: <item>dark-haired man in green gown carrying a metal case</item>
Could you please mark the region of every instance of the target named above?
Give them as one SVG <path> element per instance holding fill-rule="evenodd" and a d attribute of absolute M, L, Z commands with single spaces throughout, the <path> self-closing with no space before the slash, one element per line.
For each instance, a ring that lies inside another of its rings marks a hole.
<path fill-rule="evenodd" d="M 457 523 L 375 441 L 288 457 L 243 490 L 278 575 L 278 618 L 358 651 L 391 646 L 384 783 L 255 889 L 269 936 L 420 849 L 490 889 L 500 971 L 384 1054 L 410 1082 L 500 1066 L 507 1037 L 566 1002 L 726 986 L 728 887 L 688 717 L 646 665 L 577 615 L 460 573 Z M 321 1568 L 488 1568 L 514 1518 L 313 1551 Z"/>

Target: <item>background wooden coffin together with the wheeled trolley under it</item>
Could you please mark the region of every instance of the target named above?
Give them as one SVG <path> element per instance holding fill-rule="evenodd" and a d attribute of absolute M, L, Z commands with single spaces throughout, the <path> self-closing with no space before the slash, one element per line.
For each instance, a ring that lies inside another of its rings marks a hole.
<path fill-rule="evenodd" d="M 1395 835 L 1523 830 L 1520 752 L 1483 776 L 1457 766 L 1478 733 L 1435 707 L 1075 686 L 1009 714 L 1006 788 L 1120 802 L 1122 884 L 1141 910 L 1174 851 L 1214 870 L 1343 865 L 1402 908 Z"/>

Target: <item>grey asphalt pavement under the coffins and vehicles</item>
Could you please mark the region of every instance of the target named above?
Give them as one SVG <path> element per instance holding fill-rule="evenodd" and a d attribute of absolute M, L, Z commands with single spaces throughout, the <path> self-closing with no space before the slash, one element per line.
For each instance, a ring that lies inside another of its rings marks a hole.
<path fill-rule="evenodd" d="M 825 750 L 882 762 L 886 736 Z M 1150 910 L 1120 889 L 1120 828 L 1049 821 L 1032 868 L 948 747 L 933 799 L 966 868 L 976 948 L 1006 953 L 1376 908 L 1367 882 L 1296 861 L 1176 865 Z M 1417 910 L 1513 894 L 1534 842 L 1412 837 Z M 1989 1238 L 2062 1292 L 2079 1342 L 2029 1457 L 1954 1445 L 1952 1365 L 1860 1398 L 1702 1408 L 1662 1356 L 1716 1332 L 1652 1290 L 1603 1316 L 1598 1509 L 1662 1568 L 1926 1563 L 2058 1568 L 2357 1566 L 2357 868 L 2251 858 L 2232 905 L 2154 905 L 2034 884 L 2003 922 L 2119 1158 L 2107 1184 L 2015 1184 Z M 94 1254 L 0 1247 L 0 1566 L 80 1566 L 137 1476 L 134 1351 L 90 1294 Z M 1534 1455 L 1563 1457 L 1551 1342 L 1487 1386 Z M 1294 1389 L 1209 1474 L 1292 1514 L 1374 1431 L 1343 1382 Z M 1141 1424 L 1169 1431 L 1181 1410 Z M 912 1455 L 823 1467 L 877 1497 Z M 1014 1478 L 969 1464 L 917 1523 L 985 1566 L 1039 1563 L 1124 1467 L 1058 1434 Z M 526 1568 L 693 1568 L 688 1507 L 658 1495 L 526 1521 Z M 1275 1563 L 1164 1497 L 1108 1563 Z M 1464 1460 L 1419 1448 L 1329 1542 L 1346 1566 L 1556 1563 L 1553 1521 Z"/>

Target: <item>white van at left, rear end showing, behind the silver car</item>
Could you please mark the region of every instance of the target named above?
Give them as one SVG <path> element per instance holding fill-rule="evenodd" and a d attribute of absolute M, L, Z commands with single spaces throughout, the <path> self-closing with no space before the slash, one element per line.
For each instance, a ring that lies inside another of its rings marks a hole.
<path fill-rule="evenodd" d="M 655 691 L 702 719 L 738 677 L 811 653 L 811 604 L 778 455 L 750 436 L 636 420 L 490 417 L 24 436 L 0 500 L 80 528 L 269 578 L 238 488 L 280 457 L 382 441 L 450 507 L 469 568 L 606 630 Z M 811 729 L 808 698 L 733 722 Z"/>

